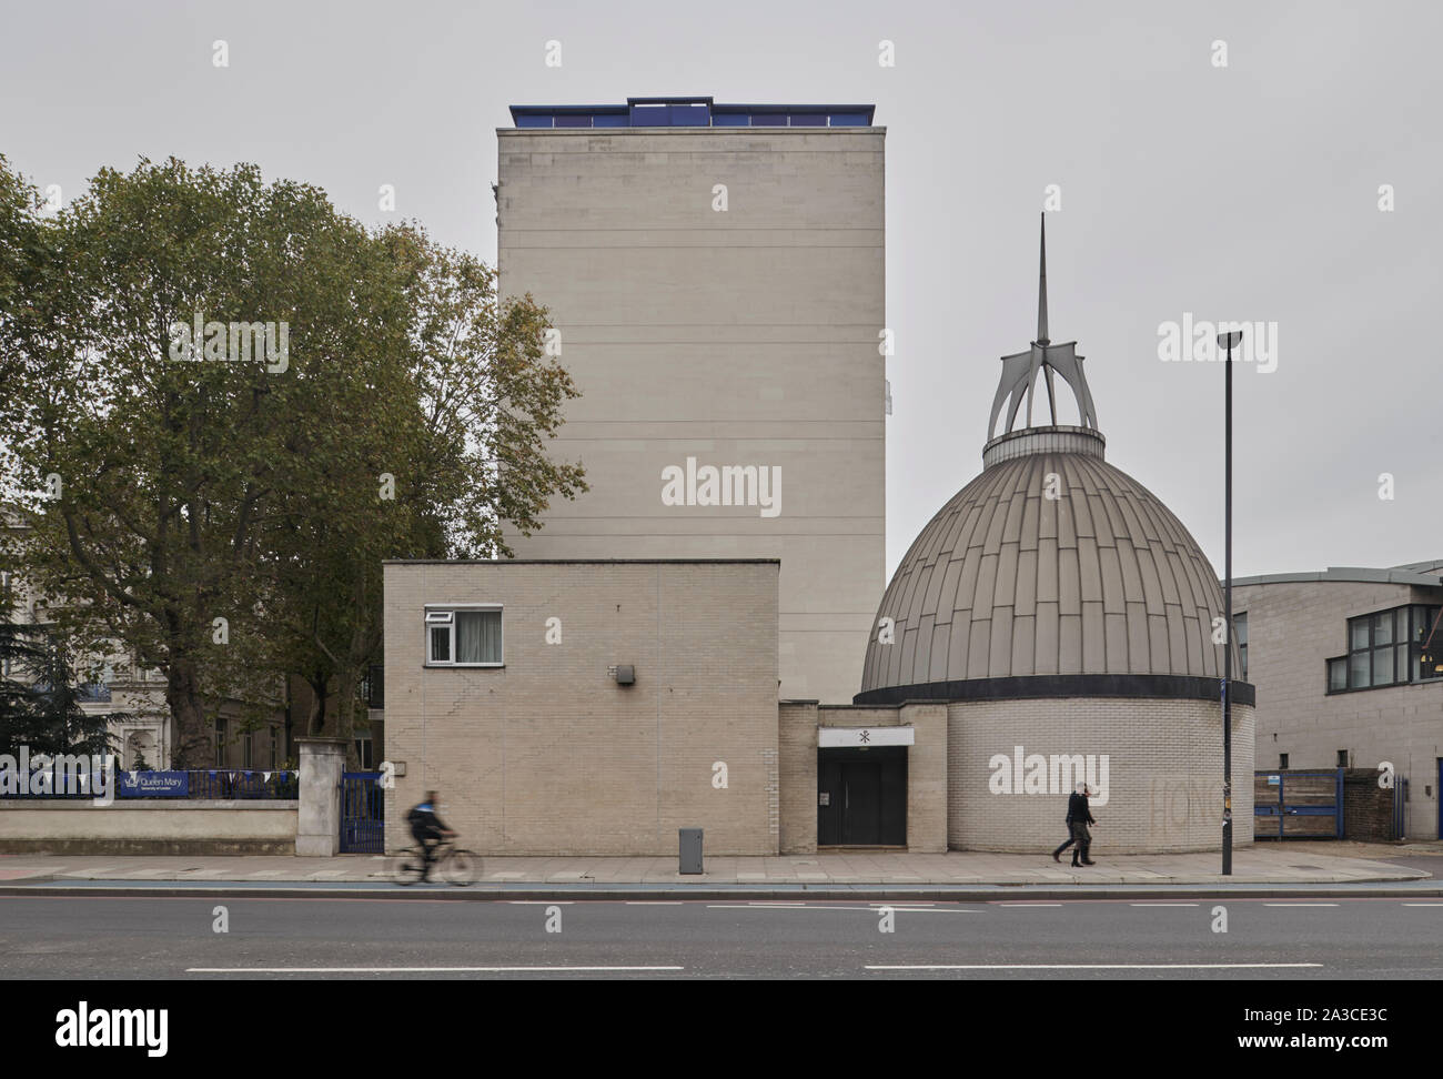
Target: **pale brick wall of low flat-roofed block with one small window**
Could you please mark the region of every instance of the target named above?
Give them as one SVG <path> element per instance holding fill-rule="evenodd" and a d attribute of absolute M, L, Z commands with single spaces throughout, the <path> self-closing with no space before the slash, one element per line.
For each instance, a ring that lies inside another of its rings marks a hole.
<path fill-rule="evenodd" d="M 698 827 L 709 854 L 775 854 L 776 581 L 776 563 L 388 563 L 387 753 L 405 776 L 387 848 L 434 788 L 481 853 L 675 854 Z M 426 668 L 426 603 L 504 604 L 505 666 Z"/>

